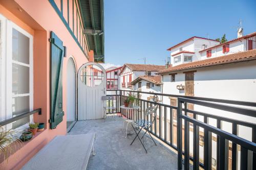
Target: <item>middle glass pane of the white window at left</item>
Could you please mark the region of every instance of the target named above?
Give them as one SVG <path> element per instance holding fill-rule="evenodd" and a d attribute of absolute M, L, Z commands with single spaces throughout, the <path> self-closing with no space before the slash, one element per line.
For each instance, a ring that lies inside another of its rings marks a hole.
<path fill-rule="evenodd" d="M 29 67 L 12 64 L 12 94 L 29 93 Z"/>

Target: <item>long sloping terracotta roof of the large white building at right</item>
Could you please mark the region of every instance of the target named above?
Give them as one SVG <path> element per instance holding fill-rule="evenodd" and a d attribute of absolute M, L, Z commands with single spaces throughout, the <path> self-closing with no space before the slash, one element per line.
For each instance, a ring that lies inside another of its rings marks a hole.
<path fill-rule="evenodd" d="M 177 66 L 163 69 L 163 70 L 157 72 L 157 74 L 161 75 L 161 74 L 164 74 L 167 72 L 207 67 L 207 66 L 214 66 L 214 65 L 221 65 L 221 64 L 229 64 L 229 63 L 248 61 L 248 60 L 256 60 L 256 49 L 246 51 L 246 52 L 234 53 L 234 54 L 221 56 L 221 57 L 215 57 L 215 58 L 209 58 L 209 59 L 200 60 L 200 61 L 194 61 L 194 62 L 190 62 L 190 63 L 186 63 L 186 64 L 180 64 Z"/>

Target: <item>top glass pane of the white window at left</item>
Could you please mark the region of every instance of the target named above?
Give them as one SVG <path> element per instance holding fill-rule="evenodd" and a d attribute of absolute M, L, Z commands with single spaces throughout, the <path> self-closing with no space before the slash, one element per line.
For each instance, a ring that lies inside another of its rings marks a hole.
<path fill-rule="evenodd" d="M 12 29 L 12 59 L 29 64 L 29 38 Z"/>

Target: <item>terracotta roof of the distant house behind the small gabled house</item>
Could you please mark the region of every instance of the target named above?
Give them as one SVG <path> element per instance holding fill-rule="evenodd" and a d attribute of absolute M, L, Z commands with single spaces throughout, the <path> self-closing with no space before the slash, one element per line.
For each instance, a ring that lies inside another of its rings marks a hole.
<path fill-rule="evenodd" d="M 131 68 L 133 71 L 160 71 L 165 68 L 164 65 L 151 65 L 151 64 L 123 64 L 120 74 L 123 72 L 125 66 Z"/>

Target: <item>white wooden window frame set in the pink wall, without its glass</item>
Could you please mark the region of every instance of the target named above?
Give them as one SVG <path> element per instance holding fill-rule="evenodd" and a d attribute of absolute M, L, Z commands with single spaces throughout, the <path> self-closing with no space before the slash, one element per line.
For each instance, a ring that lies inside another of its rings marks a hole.
<path fill-rule="evenodd" d="M 13 117 L 12 115 L 12 98 L 20 96 L 30 96 L 29 109 L 33 110 L 33 36 L 17 26 L 11 20 L 0 14 L 1 20 L 1 112 L 0 120 L 5 120 Z M 18 62 L 12 59 L 12 29 L 24 34 L 29 38 L 29 64 Z M 12 94 L 12 64 L 18 64 L 29 67 L 29 93 Z M 33 122 L 33 115 L 30 115 L 30 122 Z M 12 129 L 12 124 L 6 126 L 7 129 Z M 19 127 L 19 130 L 24 130 L 27 125 Z"/>

